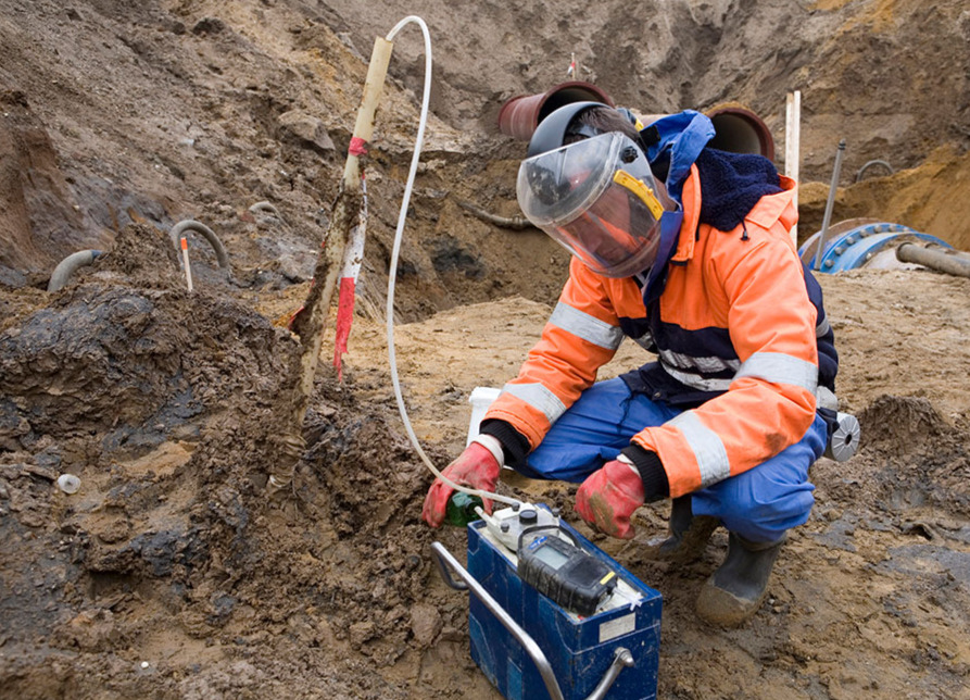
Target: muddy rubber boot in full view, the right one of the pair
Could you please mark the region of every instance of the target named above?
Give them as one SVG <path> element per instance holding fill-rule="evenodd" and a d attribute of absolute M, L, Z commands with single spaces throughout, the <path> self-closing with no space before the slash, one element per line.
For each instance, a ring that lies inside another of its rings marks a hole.
<path fill-rule="evenodd" d="M 751 542 L 730 533 L 723 563 L 697 597 L 697 615 L 722 627 L 736 627 L 751 618 L 768 596 L 768 579 L 784 539 Z"/>

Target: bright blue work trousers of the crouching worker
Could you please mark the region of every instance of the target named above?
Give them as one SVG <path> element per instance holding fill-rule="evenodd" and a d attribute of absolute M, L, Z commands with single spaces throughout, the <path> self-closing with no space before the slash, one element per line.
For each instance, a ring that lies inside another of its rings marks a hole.
<path fill-rule="evenodd" d="M 632 393 L 620 379 L 587 389 L 517 471 L 525 476 L 579 483 L 615 460 L 637 433 L 681 413 Z M 826 423 L 816 415 L 805 436 L 758 466 L 694 491 L 694 515 L 713 515 L 755 542 L 776 541 L 808 520 L 815 487 L 808 467 L 826 448 Z"/>

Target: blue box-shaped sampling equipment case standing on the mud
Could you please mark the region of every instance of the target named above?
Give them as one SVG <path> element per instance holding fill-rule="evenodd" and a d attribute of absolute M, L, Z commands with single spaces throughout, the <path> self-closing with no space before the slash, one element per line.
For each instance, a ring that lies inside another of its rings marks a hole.
<path fill-rule="evenodd" d="M 610 600 L 589 617 L 560 608 L 519 578 L 515 554 L 490 536 L 483 521 L 470 523 L 468 571 L 461 570 L 450 554 L 448 559 L 452 568 L 462 571 L 473 592 L 479 589 L 479 595 L 469 599 L 471 658 L 507 700 L 557 700 L 555 690 L 549 690 L 550 674 L 555 676 L 552 683 L 558 684 L 563 700 L 581 700 L 597 689 L 602 692 L 601 685 L 608 690 L 597 697 L 609 700 L 656 698 L 660 593 L 640 583 L 568 524 L 560 522 L 559 527 L 620 578 Z M 440 554 L 446 550 L 438 542 L 432 548 L 438 548 L 439 566 L 451 583 Z M 481 590 L 487 596 L 481 596 Z M 489 597 L 491 601 L 482 600 Z M 547 665 L 537 664 L 509 625 L 503 624 L 506 615 L 514 621 L 512 626 L 517 625 L 534 640 Z M 540 666 L 545 666 L 544 674 Z M 604 678 L 607 675 L 610 678 Z"/>

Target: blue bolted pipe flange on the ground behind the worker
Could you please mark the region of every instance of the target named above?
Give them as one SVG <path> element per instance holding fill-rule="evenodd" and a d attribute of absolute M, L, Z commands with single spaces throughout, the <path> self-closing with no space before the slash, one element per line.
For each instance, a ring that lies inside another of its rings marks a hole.
<path fill-rule="evenodd" d="M 831 240 L 826 241 L 821 254 L 821 264 L 816 265 L 820 233 L 816 233 L 802 243 L 802 247 L 798 249 L 798 255 L 809 268 L 824 273 L 865 267 L 877 253 L 887 248 L 896 248 L 904 242 L 919 241 L 923 245 L 935 243 L 943 248 L 953 248 L 953 246 L 935 236 L 922 234 L 902 224 L 866 224 L 836 234 Z M 807 254 L 811 257 L 807 259 Z"/>

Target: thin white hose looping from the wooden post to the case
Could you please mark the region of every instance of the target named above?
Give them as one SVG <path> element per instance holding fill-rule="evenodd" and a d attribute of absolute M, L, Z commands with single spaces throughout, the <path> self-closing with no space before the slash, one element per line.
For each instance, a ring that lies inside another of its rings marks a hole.
<path fill-rule="evenodd" d="M 401 20 L 401 22 L 399 22 L 387 36 L 388 41 L 393 41 L 398 33 L 405 25 L 412 23 L 417 24 L 421 28 L 421 34 L 425 37 L 425 90 L 421 98 L 421 115 L 420 120 L 418 121 L 417 136 L 415 137 L 414 142 L 414 155 L 412 155 L 411 158 L 411 171 L 407 173 L 407 184 L 404 186 L 404 197 L 401 200 L 401 212 L 398 215 L 398 228 L 394 233 L 394 247 L 391 251 L 391 264 L 390 271 L 388 272 L 388 360 L 390 362 L 391 383 L 394 385 L 394 398 L 398 400 L 398 411 L 400 411 L 401 413 L 401 421 L 404 423 L 404 430 L 407 433 L 407 437 L 411 439 L 411 443 L 414 446 L 414 449 L 421 458 L 421 461 L 429 470 L 431 470 L 431 473 L 434 474 L 437 478 L 440 478 L 448 486 L 457 491 L 462 491 L 463 493 L 467 493 L 469 496 L 478 496 L 479 498 L 483 499 L 487 498 L 493 501 L 507 503 L 509 505 L 516 505 L 520 503 L 518 499 L 508 498 L 506 496 L 491 493 L 489 491 L 482 491 L 479 489 L 468 488 L 466 486 L 461 486 L 452 482 L 446 476 L 442 475 L 441 472 L 439 472 L 434 467 L 434 465 L 431 463 L 431 460 L 428 459 L 428 455 L 425 454 L 425 451 L 421 449 L 417 436 L 414 433 L 414 428 L 411 426 L 411 420 L 407 417 L 407 409 L 404 405 L 404 398 L 401 396 L 401 383 L 398 379 L 398 359 L 394 351 L 394 285 L 398 278 L 398 257 L 401 252 L 401 238 L 404 233 L 404 222 L 407 218 L 407 207 L 408 202 L 411 201 L 411 191 L 414 188 L 414 177 L 417 174 L 417 166 L 418 162 L 420 161 L 421 146 L 424 145 L 425 140 L 425 125 L 428 121 L 428 102 L 431 98 L 431 36 L 428 33 L 428 25 L 425 24 L 424 20 L 416 15 L 410 15 Z"/>

